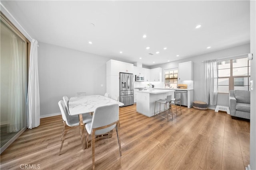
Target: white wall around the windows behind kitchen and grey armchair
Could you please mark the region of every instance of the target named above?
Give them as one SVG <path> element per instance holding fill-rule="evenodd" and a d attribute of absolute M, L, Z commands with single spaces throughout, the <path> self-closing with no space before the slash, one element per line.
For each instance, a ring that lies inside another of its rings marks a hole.
<path fill-rule="evenodd" d="M 233 47 L 229 49 L 215 51 L 212 53 L 181 59 L 170 63 L 159 64 L 152 68 L 162 67 L 164 71 L 165 69 L 177 68 L 178 63 L 193 61 L 194 101 L 204 101 L 204 90 L 202 90 L 204 89 L 204 64 L 202 63 L 202 61 L 210 59 L 220 59 L 223 57 L 230 57 L 245 53 L 250 53 L 250 44 L 240 45 L 238 47 Z M 217 105 L 229 106 L 228 94 L 218 94 Z M 210 106 L 210 108 L 214 109 L 215 107 Z"/>

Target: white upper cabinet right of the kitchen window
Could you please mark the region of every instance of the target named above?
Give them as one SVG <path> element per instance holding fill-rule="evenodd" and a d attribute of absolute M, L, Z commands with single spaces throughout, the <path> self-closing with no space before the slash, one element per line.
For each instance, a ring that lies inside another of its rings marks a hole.
<path fill-rule="evenodd" d="M 178 66 L 178 81 L 193 80 L 193 63 L 188 61 L 179 63 Z"/>

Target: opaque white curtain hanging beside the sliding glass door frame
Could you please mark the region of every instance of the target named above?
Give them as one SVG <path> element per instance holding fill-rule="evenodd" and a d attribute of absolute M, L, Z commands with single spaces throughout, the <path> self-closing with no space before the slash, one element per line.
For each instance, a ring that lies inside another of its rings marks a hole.
<path fill-rule="evenodd" d="M 27 127 L 32 129 L 40 125 L 40 99 L 38 84 L 38 42 L 32 39 L 28 73 Z"/>

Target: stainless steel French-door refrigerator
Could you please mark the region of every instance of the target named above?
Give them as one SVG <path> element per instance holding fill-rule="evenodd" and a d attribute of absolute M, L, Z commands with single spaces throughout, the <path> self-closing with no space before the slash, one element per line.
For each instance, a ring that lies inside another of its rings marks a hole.
<path fill-rule="evenodd" d="M 133 83 L 133 74 L 120 72 L 120 102 L 124 106 L 133 105 L 134 103 Z"/>

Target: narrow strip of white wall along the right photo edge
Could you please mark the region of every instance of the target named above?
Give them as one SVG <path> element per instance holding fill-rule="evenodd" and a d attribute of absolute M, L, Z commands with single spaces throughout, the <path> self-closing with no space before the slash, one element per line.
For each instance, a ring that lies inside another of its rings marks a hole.
<path fill-rule="evenodd" d="M 256 170 L 256 1 L 250 1 L 250 45 L 253 59 L 251 61 L 251 80 L 254 81 L 251 90 L 250 115 L 250 166 Z"/>

